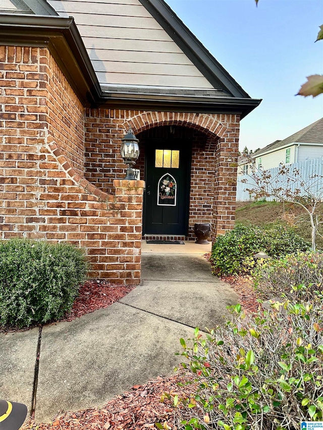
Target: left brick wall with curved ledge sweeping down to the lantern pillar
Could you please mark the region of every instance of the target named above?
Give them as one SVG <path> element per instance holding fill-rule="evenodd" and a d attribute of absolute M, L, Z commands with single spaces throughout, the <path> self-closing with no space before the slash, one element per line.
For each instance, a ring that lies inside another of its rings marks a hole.
<path fill-rule="evenodd" d="M 143 182 L 107 195 L 79 174 L 80 103 L 47 49 L 0 48 L 0 59 L 0 238 L 68 240 L 87 249 L 91 276 L 138 284 Z"/>

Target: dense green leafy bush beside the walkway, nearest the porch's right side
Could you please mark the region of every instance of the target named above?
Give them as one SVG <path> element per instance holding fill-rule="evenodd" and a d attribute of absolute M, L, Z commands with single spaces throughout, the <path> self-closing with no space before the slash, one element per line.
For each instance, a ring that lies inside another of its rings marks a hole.
<path fill-rule="evenodd" d="M 294 230 L 280 224 L 264 227 L 236 225 L 233 230 L 217 237 L 210 261 L 216 275 L 249 273 L 255 265 L 253 256 L 260 251 L 270 257 L 280 257 L 309 248 L 309 243 Z"/>

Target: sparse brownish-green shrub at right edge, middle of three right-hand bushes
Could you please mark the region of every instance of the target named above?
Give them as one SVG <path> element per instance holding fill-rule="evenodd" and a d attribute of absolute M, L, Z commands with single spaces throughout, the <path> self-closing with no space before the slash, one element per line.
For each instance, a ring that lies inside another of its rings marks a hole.
<path fill-rule="evenodd" d="M 294 301 L 313 300 L 323 290 L 323 254 L 309 251 L 267 260 L 253 275 L 262 298 L 278 295 Z"/>

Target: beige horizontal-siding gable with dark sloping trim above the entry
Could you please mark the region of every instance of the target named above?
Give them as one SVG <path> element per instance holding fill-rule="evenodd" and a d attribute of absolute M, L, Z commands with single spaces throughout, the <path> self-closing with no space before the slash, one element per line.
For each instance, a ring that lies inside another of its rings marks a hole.
<path fill-rule="evenodd" d="M 164 0 L 48 3 L 75 18 L 103 91 L 249 97 Z"/>

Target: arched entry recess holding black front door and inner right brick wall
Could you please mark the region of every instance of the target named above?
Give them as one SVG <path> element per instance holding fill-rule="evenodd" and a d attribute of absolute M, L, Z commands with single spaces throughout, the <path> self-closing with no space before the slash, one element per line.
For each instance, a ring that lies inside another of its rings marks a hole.
<path fill-rule="evenodd" d="M 143 234 L 193 238 L 195 222 L 211 223 L 213 219 L 218 139 L 178 125 L 149 128 L 137 137 L 140 142 L 137 166 L 140 178 L 146 182 Z M 156 160 L 158 155 L 164 158 Z M 175 188 L 173 191 L 171 187 L 169 197 L 165 198 L 171 204 L 164 205 L 165 200 L 160 200 L 166 194 L 160 193 L 163 179 L 168 179 Z"/>

